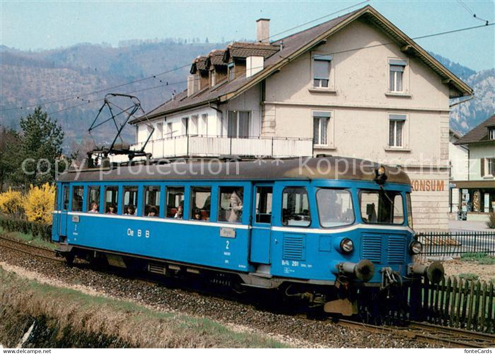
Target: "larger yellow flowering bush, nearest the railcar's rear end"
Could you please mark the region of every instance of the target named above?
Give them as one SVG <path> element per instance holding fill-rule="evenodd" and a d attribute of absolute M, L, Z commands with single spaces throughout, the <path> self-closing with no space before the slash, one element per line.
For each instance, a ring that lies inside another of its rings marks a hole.
<path fill-rule="evenodd" d="M 55 186 L 49 183 L 41 187 L 30 186 L 23 199 L 24 213 L 29 221 L 51 223 L 55 200 Z"/>

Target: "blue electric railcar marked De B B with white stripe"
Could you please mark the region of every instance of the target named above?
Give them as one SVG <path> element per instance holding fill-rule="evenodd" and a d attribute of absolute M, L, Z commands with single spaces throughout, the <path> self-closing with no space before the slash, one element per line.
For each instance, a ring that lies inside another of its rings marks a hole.
<path fill-rule="evenodd" d="M 414 265 L 410 180 L 340 157 L 70 171 L 58 252 L 167 276 L 226 277 L 355 313 L 354 294 L 443 268 Z"/>

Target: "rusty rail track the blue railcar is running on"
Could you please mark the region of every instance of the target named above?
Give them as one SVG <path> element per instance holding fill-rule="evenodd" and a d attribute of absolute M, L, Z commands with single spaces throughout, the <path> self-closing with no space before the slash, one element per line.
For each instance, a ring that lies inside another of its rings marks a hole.
<path fill-rule="evenodd" d="M 19 240 L 5 237 L 3 235 L 0 235 L 0 247 L 8 248 L 33 257 L 42 258 L 44 260 L 49 260 L 51 262 L 64 262 L 63 258 L 56 257 L 54 250 L 31 245 Z M 115 272 L 115 274 L 118 275 L 118 272 Z M 161 284 L 158 280 L 151 278 L 139 277 L 137 280 L 148 284 Z M 193 290 L 191 288 L 188 290 L 196 291 L 198 294 L 204 295 L 204 292 L 202 291 Z M 214 296 L 211 293 L 206 293 L 206 295 Z M 422 343 L 440 345 L 446 348 L 495 348 L 495 335 L 424 322 L 409 321 L 403 326 L 379 326 L 347 319 L 328 319 L 328 321 L 335 322 L 341 326 L 360 329 L 370 333 L 393 333 L 402 338 L 407 338 Z"/>

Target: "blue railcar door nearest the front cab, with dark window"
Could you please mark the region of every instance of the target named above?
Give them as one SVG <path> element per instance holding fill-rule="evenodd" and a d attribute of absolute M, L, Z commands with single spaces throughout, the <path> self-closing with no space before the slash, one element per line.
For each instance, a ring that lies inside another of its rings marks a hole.
<path fill-rule="evenodd" d="M 254 185 L 251 222 L 251 263 L 270 264 L 273 184 Z"/>

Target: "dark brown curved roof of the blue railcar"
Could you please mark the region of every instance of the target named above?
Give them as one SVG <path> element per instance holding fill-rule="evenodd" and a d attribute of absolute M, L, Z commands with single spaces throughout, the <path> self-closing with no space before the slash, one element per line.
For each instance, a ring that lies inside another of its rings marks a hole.
<path fill-rule="evenodd" d="M 166 165 L 121 166 L 113 169 L 69 171 L 59 181 L 124 180 L 280 180 L 354 179 L 373 181 L 380 165 L 345 157 L 257 160 L 241 162 L 204 161 Z M 410 184 L 401 170 L 386 167 L 387 182 Z"/>

